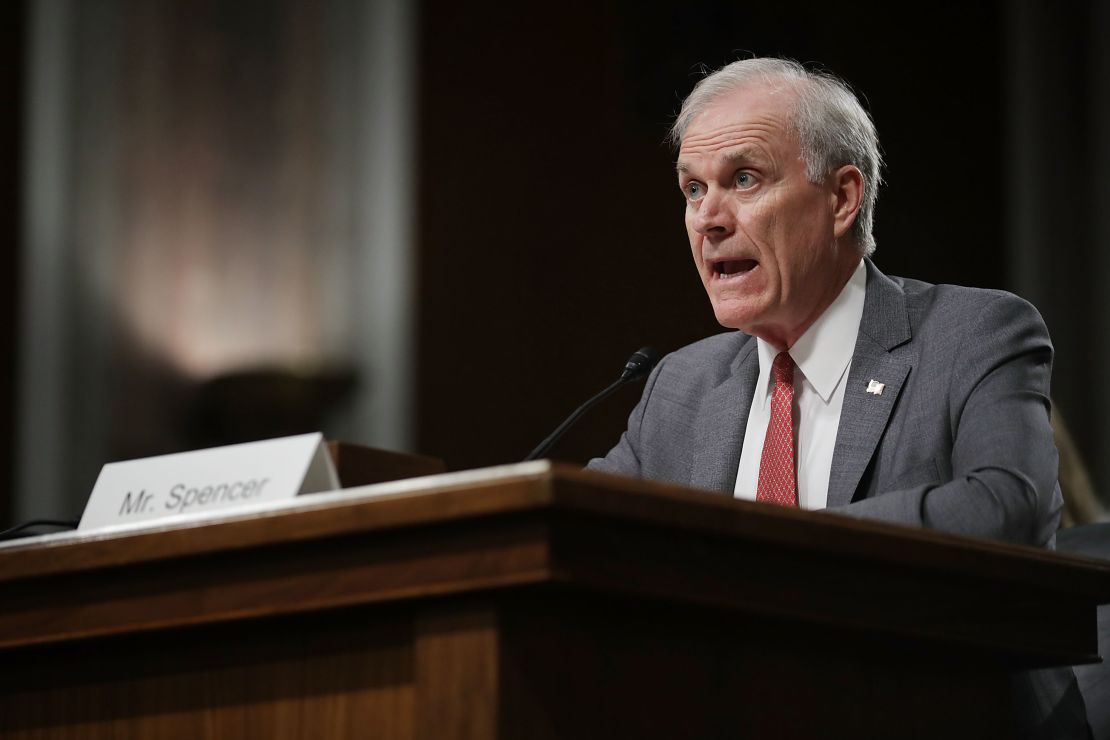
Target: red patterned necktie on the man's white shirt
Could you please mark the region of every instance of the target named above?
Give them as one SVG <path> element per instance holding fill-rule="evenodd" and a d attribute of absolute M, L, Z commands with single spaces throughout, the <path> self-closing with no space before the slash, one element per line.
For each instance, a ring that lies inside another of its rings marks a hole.
<path fill-rule="evenodd" d="M 770 420 L 759 459 L 756 500 L 779 506 L 798 505 L 794 466 L 794 359 L 778 353 L 770 366 L 775 386 L 770 392 Z"/>

